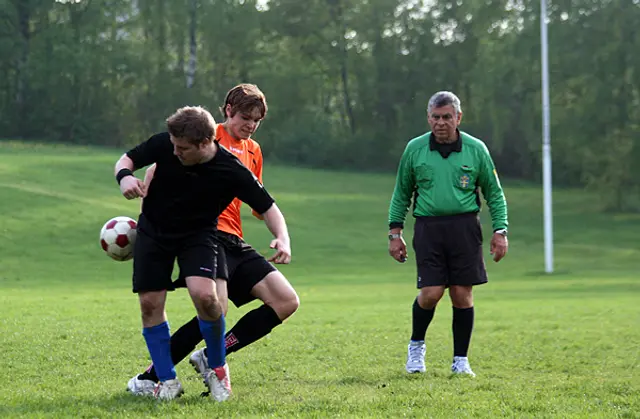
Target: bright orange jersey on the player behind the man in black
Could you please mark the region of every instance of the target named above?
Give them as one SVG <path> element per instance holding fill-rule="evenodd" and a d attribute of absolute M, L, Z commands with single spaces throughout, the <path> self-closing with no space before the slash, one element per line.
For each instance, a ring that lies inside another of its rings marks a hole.
<path fill-rule="evenodd" d="M 218 128 L 216 128 L 216 140 L 220 142 L 220 145 L 239 158 L 242 164 L 248 167 L 262 183 L 262 150 L 257 142 L 251 138 L 236 140 L 224 129 L 222 124 L 218 124 Z M 222 211 L 222 214 L 220 214 L 218 218 L 218 230 L 235 234 L 242 238 L 242 220 L 240 219 L 241 205 L 242 201 L 235 198 L 229 206 Z M 258 214 L 254 213 L 254 215 L 257 216 Z"/>

